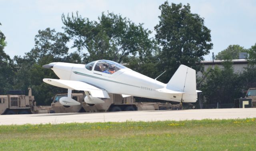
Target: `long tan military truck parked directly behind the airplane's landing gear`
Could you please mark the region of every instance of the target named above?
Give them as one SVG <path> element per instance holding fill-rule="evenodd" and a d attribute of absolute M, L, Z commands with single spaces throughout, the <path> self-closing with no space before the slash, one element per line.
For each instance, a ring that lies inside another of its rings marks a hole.
<path fill-rule="evenodd" d="M 83 93 L 72 93 L 72 99 L 80 102 L 80 105 L 65 106 L 60 104 L 61 97 L 68 94 L 57 94 L 51 104 L 55 113 L 78 113 L 78 112 L 106 112 L 106 111 L 145 111 L 145 110 L 165 110 L 181 109 L 181 104 L 136 102 L 133 96 L 122 97 L 119 94 L 109 93 L 110 98 L 104 99 L 104 103 L 88 104 L 84 101 Z"/>

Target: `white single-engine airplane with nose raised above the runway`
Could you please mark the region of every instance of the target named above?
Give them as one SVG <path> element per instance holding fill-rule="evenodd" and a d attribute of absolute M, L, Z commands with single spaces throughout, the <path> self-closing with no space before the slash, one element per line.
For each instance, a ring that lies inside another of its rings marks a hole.
<path fill-rule="evenodd" d="M 84 64 L 53 62 L 50 68 L 60 79 L 43 79 L 44 82 L 68 89 L 68 97 L 62 97 L 62 105 L 79 105 L 71 98 L 72 90 L 84 91 L 84 101 L 89 104 L 104 103 L 108 93 L 123 97 L 137 96 L 175 102 L 196 102 L 196 71 L 181 65 L 165 84 L 144 76 L 110 60 L 98 60 Z M 159 77 L 159 76 L 158 76 Z"/>

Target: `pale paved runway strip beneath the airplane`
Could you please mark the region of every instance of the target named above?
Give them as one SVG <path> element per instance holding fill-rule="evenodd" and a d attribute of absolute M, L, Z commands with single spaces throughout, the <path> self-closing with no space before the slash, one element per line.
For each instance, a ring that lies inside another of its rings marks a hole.
<path fill-rule="evenodd" d="M 243 119 L 256 117 L 256 108 L 247 109 L 190 109 L 167 111 L 124 111 L 104 113 L 58 113 L 0 115 L 0 125 L 39 123 L 84 123 L 124 121 L 182 121 L 192 119 Z"/>

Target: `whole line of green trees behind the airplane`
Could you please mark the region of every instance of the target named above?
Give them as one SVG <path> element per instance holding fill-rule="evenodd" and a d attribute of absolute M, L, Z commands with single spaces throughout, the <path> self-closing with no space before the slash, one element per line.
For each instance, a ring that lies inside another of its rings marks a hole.
<path fill-rule="evenodd" d="M 0 94 L 9 89 L 31 87 L 38 105 L 49 105 L 50 98 L 56 93 L 66 93 L 66 89 L 42 82 L 43 78 L 58 78 L 52 70 L 42 68 L 50 62 L 87 64 L 100 59 L 113 60 L 152 78 L 166 71 L 158 78 L 164 83 L 181 64 L 202 72 L 200 62 L 213 46 L 204 18 L 193 14 L 189 4 L 164 2 L 159 9 L 161 14 L 154 27 L 154 37 L 150 37 L 152 31 L 145 29 L 143 24 L 135 24 L 120 14 L 102 12 L 97 21 L 84 18 L 79 12 L 62 14 L 64 32 L 50 28 L 39 30 L 34 48 L 13 59 L 4 52 L 6 41 L 0 31 Z M 68 43 L 72 43 L 71 48 Z M 68 53 L 70 49 L 76 51 Z M 256 58 L 256 45 L 246 51 L 252 54 L 250 68 L 254 68 L 252 58 Z M 225 56 L 222 53 L 216 58 Z M 235 74 L 227 61 L 223 70 L 214 68 L 207 75 L 203 73 L 205 78 L 198 77 L 203 103 L 229 103 L 240 97 L 242 89 L 255 79 L 255 74 L 250 73 L 254 71 L 246 69 L 250 76 L 245 78 L 244 73 Z"/>

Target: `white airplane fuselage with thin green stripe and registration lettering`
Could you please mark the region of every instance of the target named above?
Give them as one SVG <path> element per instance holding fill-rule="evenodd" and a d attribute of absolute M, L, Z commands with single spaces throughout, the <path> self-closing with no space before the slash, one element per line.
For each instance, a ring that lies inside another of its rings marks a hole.
<path fill-rule="evenodd" d="M 96 68 L 95 65 L 92 67 L 92 70 L 88 70 L 84 64 L 61 62 L 52 64 L 54 64 L 52 70 L 60 79 L 86 82 L 105 89 L 108 93 L 176 102 L 180 102 L 182 99 L 182 94 L 156 91 L 156 89 L 166 87 L 166 84 L 130 70 L 129 68 L 122 68 L 113 74 L 109 74 L 94 70 Z"/>

